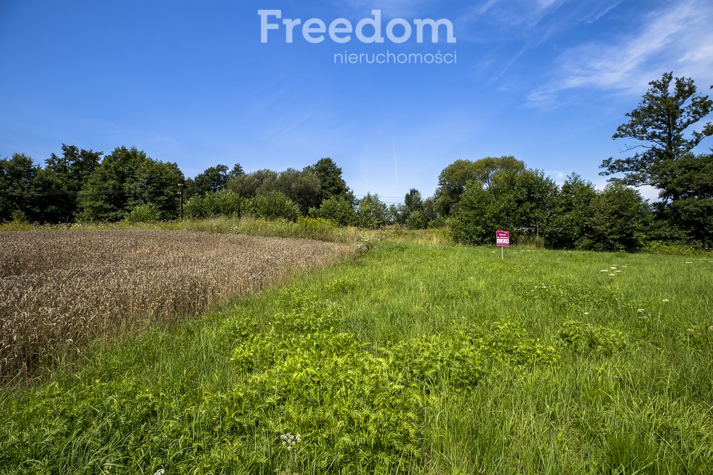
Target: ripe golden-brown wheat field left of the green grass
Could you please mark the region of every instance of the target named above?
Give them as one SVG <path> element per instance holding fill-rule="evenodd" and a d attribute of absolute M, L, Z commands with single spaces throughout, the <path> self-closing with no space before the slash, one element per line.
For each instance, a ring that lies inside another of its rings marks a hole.
<path fill-rule="evenodd" d="M 0 378 L 63 348 L 198 315 L 351 246 L 190 231 L 0 233 Z"/>

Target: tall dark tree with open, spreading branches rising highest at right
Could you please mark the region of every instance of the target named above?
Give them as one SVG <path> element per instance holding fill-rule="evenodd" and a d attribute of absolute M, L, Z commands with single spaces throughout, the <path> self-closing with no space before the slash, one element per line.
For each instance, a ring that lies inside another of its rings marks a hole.
<path fill-rule="evenodd" d="M 613 178 L 639 187 L 651 185 L 662 190 L 662 197 L 677 199 L 671 189 L 674 162 L 686 156 L 705 137 L 713 135 L 713 125 L 707 122 L 700 130 L 687 130 L 697 125 L 713 111 L 713 101 L 707 95 L 696 93 L 690 78 L 674 78 L 665 73 L 660 80 L 649 83 L 638 107 L 627 113 L 629 121 L 617 127 L 612 138 L 630 138 L 641 143 L 626 148 L 626 152 L 641 149 L 630 157 L 607 158 L 602 162 L 600 174 L 608 176 L 623 173 L 623 178 Z"/>

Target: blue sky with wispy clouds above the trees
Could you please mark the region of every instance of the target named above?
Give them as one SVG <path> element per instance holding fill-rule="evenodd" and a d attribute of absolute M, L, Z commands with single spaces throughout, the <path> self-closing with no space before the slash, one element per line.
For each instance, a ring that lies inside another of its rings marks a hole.
<path fill-rule="evenodd" d="M 281 26 L 261 43 L 260 9 L 327 26 L 379 9 L 384 36 L 393 19 L 448 19 L 456 42 L 418 43 L 414 27 L 405 43 L 315 44 L 297 26 L 287 43 Z M 189 177 L 332 157 L 356 194 L 385 201 L 429 196 L 443 167 L 487 156 L 601 185 L 648 81 L 673 71 L 709 91 L 712 24 L 706 0 L 2 0 L 0 156 L 135 145 Z M 344 51 L 457 59 L 335 64 Z"/>

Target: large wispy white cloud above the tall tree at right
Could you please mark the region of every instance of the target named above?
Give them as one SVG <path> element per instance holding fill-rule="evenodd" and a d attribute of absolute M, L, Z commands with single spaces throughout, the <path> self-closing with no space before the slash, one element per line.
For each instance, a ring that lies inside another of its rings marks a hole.
<path fill-rule="evenodd" d="M 642 16 L 640 28 L 606 41 L 584 43 L 558 58 L 554 78 L 528 96 L 531 105 L 556 103 L 575 88 L 640 94 L 665 71 L 713 80 L 713 4 L 692 0 Z"/>

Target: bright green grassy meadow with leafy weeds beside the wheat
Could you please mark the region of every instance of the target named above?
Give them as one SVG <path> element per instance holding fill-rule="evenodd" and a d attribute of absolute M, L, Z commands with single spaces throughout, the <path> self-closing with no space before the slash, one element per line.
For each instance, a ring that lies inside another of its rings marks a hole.
<path fill-rule="evenodd" d="M 0 473 L 710 474 L 712 271 L 384 241 L 6 390 Z"/>

